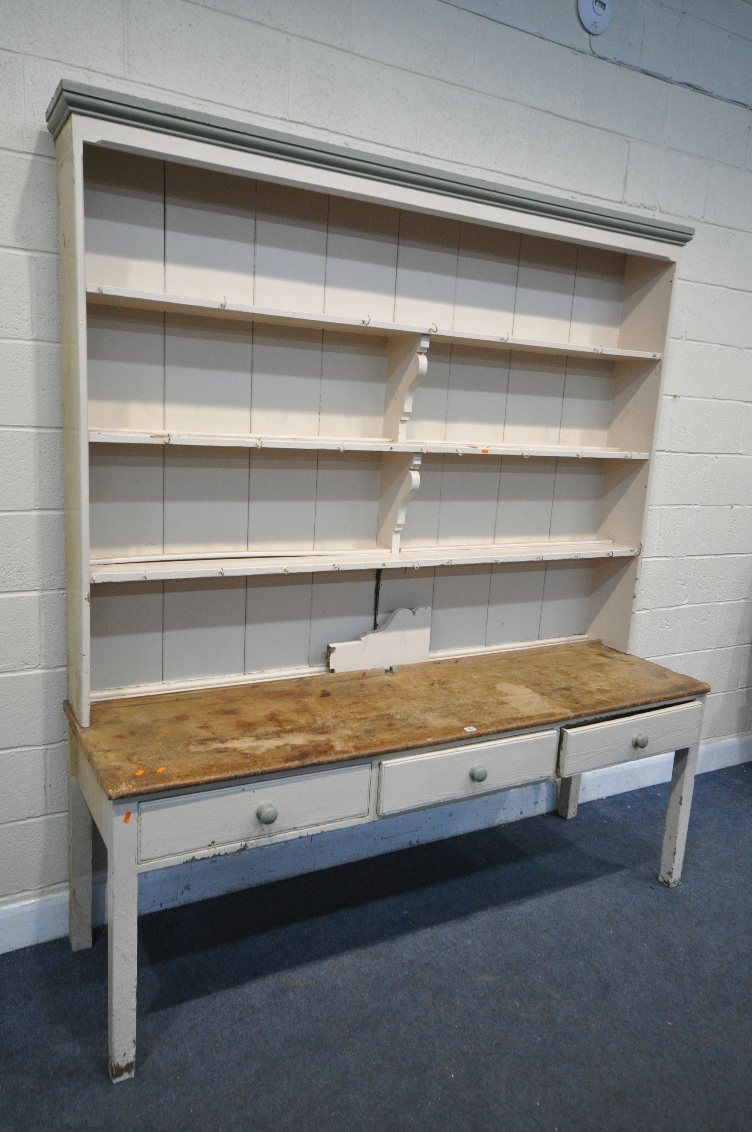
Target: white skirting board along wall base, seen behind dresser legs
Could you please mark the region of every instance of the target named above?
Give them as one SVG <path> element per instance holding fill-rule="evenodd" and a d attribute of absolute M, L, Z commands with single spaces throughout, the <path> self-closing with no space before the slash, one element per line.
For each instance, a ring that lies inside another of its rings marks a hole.
<path fill-rule="evenodd" d="M 668 782 L 673 755 L 641 758 L 582 775 L 580 803 Z M 752 734 L 720 739 L 700 747 L 698 773 L 752 762 Z M 144 874 L 139 880 L 138 911 L 194 903 L 256 884 L 268 884 L 301 873 L 344 865 L 378 854 L 443 840 L 460 833 L 505 825 L 556 809 L 552 782 L 519 787 L 450 806 L 369 822 L 266 846 L 263 849 L 199 860 L 193 865 Z M 94 883 L 94 923 L 105 920 L 103 876 Z M 68 934 L 68 886 L 58 884 L 42 893 L 0 901 L 0 953 L 28 947 Z"/>

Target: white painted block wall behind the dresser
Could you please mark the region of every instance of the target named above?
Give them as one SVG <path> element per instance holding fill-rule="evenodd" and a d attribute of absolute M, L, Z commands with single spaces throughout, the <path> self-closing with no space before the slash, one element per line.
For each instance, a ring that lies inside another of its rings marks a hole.
<path fill-rule="evenodd" d="M 66 878 L 62 77 L 689 220 L 635 649 L 752 730 L 752 5 L 0 0 L 0 900 Z M 684 86 L 706 87 L 717 97 Z"/>

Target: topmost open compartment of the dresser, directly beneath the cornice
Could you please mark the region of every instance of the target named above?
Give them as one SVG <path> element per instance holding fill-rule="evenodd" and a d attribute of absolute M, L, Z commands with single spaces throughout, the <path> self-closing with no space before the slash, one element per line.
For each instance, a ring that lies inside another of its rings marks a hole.
<path fill-rule="evenodd" d="M 627 360 L 664 348 L 666 305 L 644 310 L 658 260 L 103 147 L 85 180 L 93 302 Z"/>

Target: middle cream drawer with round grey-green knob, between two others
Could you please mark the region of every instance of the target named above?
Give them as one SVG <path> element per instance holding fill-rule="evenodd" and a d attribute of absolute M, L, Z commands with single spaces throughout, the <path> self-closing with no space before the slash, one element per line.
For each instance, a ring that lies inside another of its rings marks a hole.
<path fill-rule="evenodd" d="M 541 731 L 385 760 L 378 771 L 378 813 L 399 814 L 553 778 L 557 747 L 558 731 Z M 486 771 L 482 781 L 470 777 L 475 766 Z"/>

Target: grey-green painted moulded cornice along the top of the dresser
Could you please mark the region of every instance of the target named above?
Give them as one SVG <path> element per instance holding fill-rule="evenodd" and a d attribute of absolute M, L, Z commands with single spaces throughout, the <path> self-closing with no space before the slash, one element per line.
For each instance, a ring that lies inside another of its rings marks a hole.
<path fill-rule="evenodd" d="M 601 208 L 598 205 L 544 196 L 529 189 L 460 177 L 447 170 L 416 165 L 381 154 L 364 153 L 347 146 L 297 137 L 293 134 L 280 134 L 260 126 L 216 118 L 214 114 L 185 110 L 181 106 L 168 106 L 130 94 L 103 91 L 100 87 L 62 79 L 46 111 L 48 129 L 53 137 L 57 138 L 70 114 L 101 118 L 109 122 L 190 138 L 194 142 L 207 142 L 246 153 L 294 161 L 317 169 L 335 170 L 407 188 L 441 192 L 447 197 L 513 208 L 515 212 L 552 220 L 587 224 L 589 228 L 600 228 L 609 232 L 640 235 L 664 243 L 685 245 L 694 235 L 694 229 L 685 228 L 683 224 L 668 224 L 650 216 L 634 216 L 630 213 Z"/>

